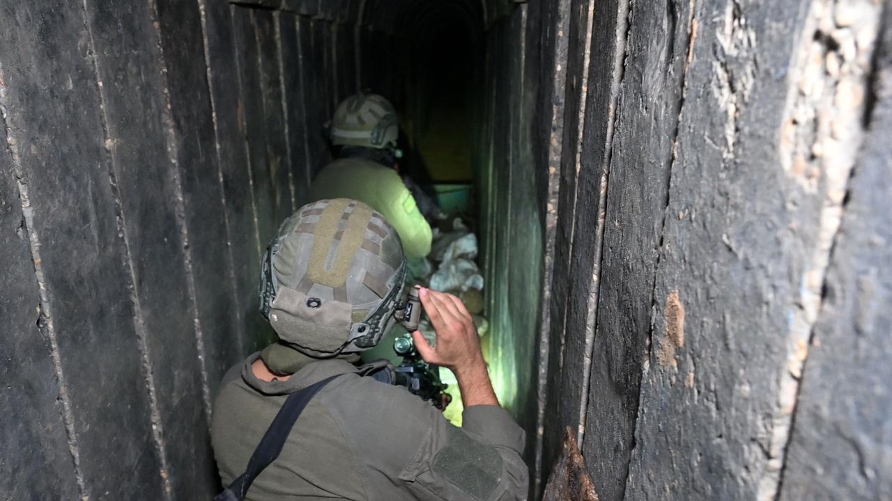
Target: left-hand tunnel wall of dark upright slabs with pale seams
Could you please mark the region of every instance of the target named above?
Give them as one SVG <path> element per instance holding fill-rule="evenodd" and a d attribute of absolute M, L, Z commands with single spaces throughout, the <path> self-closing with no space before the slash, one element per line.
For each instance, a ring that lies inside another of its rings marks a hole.
<path fill-rule="evenodd" d="M 212 399 L 271 339 L 260 255 L 383 37 L 347 4 L 0 7 L 6 497 L 219 489 Z"/>

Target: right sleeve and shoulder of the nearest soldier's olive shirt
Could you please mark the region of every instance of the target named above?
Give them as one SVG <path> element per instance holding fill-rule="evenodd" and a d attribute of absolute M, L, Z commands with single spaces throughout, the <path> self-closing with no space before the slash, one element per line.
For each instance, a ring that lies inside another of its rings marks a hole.
<path fill-rule="evenodd" d="M 344 378 L 318 398 L 334 409 L 370 501 L 526 499 L 524 431 L 498 406 L 465 409 L 464 428 L 404 388 Z"/>

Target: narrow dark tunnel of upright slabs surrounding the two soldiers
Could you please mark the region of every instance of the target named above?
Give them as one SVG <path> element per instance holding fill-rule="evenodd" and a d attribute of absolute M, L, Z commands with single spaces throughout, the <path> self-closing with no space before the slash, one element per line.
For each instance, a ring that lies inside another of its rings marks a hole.
<path fill-rule="evenodd" d="M 873 0 L 0 5 L 5 496 L 219 492 L 261 258 L 365 91 L 476 235 L 530 499 L 890 496 Z"/>

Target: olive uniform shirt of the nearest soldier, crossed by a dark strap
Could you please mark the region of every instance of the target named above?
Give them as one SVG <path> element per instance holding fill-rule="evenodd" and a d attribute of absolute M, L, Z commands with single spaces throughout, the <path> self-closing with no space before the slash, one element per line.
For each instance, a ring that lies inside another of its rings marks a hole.
<path fill-rule="evenodd" d="M 294 425 L 277 460 L 246 499 L 525 499 L 524 431 L 497 406 L 467 407 L 464 426 L 409 391 L 361 377 L 343 359 L 306 363 L 287 381 L 256 378 L 255 353 L 233 367 L 211 429 L 220 476 L 244 472 L 288 394 L 329 376 Z"/>

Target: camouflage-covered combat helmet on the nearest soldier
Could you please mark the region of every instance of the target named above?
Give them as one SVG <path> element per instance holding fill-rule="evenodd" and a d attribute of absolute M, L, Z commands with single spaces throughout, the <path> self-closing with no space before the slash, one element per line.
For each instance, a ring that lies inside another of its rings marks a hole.
<path fill-rule="evenodd" d="M 260 312 L 279 340 L 313 357 L 372 348 L 395 322 L 406 267 L 396 230 L 361 201 L 298 209 L 269 242 Z"/>

